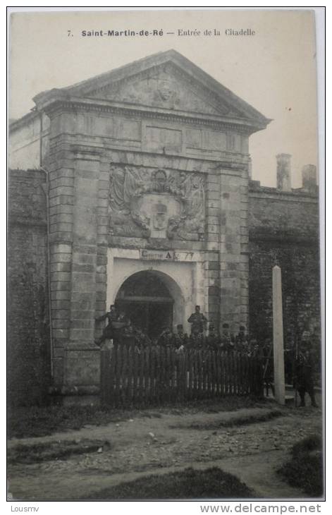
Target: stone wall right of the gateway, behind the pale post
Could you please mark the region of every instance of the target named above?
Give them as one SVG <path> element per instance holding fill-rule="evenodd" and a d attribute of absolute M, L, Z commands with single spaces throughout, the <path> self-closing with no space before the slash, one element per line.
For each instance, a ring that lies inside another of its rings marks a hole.
<path fill-rule="evenodd" d="M 320 327 L 319 204 L 305 190 L 250 183 L 250 332 L 272 336 L 272 267 L 283 284 L 286 341 Z"/>

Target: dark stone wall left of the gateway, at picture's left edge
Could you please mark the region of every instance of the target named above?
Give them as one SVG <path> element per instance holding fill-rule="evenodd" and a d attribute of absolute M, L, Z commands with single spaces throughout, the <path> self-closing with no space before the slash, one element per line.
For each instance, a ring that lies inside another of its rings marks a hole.
<path fill-rule="evenodd" d="M 8 397 L 42 404 L 50 384 L 45 176 L 8 173 Z"/>

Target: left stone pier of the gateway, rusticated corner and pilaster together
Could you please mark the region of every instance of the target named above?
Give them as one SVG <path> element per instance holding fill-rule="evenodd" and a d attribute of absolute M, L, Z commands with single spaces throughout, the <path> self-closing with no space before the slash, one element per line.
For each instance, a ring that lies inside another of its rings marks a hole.
<path fill-rule="evenodd" d="M 82 385 L 91 386 L 87 380 L 90 377 L 88 370 L 85 370 L 87 363 L 94 370 L 93 385 L 99 377 L 94 317 L 96 305 L 102 298 L 101 291 L 106 289 L 106 285 L 100 286 L 102 267 L 98 251 L 102 236 L 99 210 L 103 196 L 99 160 L 95 152 L 72 152 L 61 145 L 57 135 L 51 138 L 50 185 L 57 194 L 51 197 L 54 199 L 51 209 L 55 206 L 57 209 L 53 211 L 54 223 L 50 226 L 53 387 L 56 392 L 66 393 Z M 61 162 L 65 165 L 63 169 L 58 166 Z M 58 186 L 64 179 L 66 186 Z M 59 195 L 66 195 L 66 202 L 60 198 L 58 203 Z M 80 359 L 71 357 L 75 353 L 81 356 L 80 351 L 88 351 L 87 356 L 90 356 L 90 361 L 84 358 L 84 366 Z"/>

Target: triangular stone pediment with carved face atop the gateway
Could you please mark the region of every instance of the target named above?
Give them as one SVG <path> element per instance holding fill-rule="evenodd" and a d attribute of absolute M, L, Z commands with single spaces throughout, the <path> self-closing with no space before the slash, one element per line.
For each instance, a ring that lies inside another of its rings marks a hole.
<path fill-rule="evenodd" d="M 59 97 L 229 117 L 245 121 L 254 130 L 271 121 L 175 50 L 147 56 L 61 90 L 39 93 L 34 100 L 42 107 Z"/>

